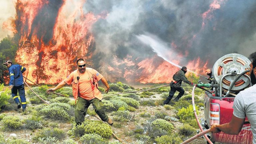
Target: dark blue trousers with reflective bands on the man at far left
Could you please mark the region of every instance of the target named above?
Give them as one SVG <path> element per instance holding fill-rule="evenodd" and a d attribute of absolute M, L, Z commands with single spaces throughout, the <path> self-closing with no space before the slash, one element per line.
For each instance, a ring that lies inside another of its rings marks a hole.
<path fill-rule="evenodd" d="M 21 101 L 22 108 L 25 109 L 27 103 L 26 103 L 26 97 L 25 97 L 24 84 L 22 84 L 20 86 L 13 86 L 11 91 L 12 91 L 12 98 L 14 99 L 15 103 L 19 103 Z M 19 101 L 19 98 L 17 96 L 18 92 L 19 92 L 19 95 L 20 95 L 20 101 Z"/>

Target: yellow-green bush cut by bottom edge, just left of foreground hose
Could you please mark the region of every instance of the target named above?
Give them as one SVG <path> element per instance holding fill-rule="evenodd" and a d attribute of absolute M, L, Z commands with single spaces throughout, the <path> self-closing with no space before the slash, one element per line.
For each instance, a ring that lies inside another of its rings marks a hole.
<path fill-rule="evenodd" d="M 163 135 L 161 137 L 157 137 L 155 141 L 157 144 L 180 144 L 183 142 L 179 137 L 173 135 Z"/>

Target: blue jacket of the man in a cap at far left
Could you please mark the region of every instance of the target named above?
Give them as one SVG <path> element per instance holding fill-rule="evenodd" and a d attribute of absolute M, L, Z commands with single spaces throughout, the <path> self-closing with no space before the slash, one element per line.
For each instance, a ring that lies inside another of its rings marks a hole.
<path fill-rule="evenodd" d="M 22 73 L 26 71 L 26 68 L 18 65 L 12 64 L 9 68 L 10 82 L 9 85 L 20 86 L 23 84 L 23 76 Z"/>

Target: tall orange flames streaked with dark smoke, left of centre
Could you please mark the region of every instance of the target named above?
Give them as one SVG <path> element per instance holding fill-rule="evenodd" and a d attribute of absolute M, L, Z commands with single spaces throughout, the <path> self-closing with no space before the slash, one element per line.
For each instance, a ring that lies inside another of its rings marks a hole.
<path fill-rule="evenodd" d="M 74 70 L 77 58 L 91 64 L 95 42 L 88 31 L 100 16 L 84 14 L 80 3 L 18 0 L 16 29 L 21 38 L 16 61 L 37 83 L 58 83 Z"/>

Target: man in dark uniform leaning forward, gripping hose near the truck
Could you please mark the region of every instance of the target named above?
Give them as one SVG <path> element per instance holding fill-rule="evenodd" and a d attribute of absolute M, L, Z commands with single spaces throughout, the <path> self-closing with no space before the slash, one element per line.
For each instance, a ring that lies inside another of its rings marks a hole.
<path fill-rule="evenodd" d="M 172 99 L 173 95 L 175 94 L 176 91 L 180 92 L 177 97 L 174 99 L 174 101 L 178 101 L 179 98 L 181 98 L 184 94 L 184 89 L 181 86 L 182 81 L 184 81 L 185 83 L 188 84 L 192 84 L 190 81 L 188 81 L 188 79 L 185 76 L 185 73 L 187 72 L 187 68 L 186 67 L 182 67 L 181 70 L 179 70 L 178 72 L 176 72 L 173 75 L 173 80 L 170 83 L 170 87 L 171 90 L 169 92 L 169 96 L 167 97 L 167 99 L 164 101 L 164 104 L 168 104 L 170 102 L 170 100 Z"/>

